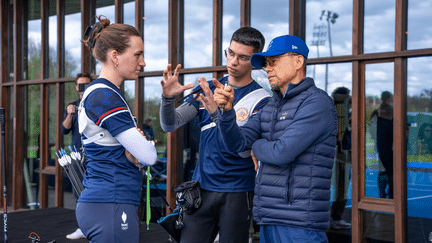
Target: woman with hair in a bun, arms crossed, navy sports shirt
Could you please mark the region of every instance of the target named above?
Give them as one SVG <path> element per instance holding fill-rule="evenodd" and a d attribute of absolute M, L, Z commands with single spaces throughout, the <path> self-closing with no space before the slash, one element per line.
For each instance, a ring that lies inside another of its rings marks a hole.
<path fill-rule="evenodd" d="M 110 24 L 103 16 L 87 28 L 84 43 L 102 63 L 99 78 L 85 90 L 78 114 L 86 172 L 76 217 L 90 242 L 139 242 L 140 168 L 157 159 L 120 86 L 145 66 L 138 30 Z"/>

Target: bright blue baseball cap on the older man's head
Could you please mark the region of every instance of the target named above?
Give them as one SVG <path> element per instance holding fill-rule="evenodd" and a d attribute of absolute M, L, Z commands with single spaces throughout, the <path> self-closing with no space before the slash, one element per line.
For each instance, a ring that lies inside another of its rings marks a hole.
<path fill-rule="evenodd" d="M 255 68 L 261 68 L 266 63 L 266 57 L 278 56 L 287 52 L 298 53 L 307 59 L 309 48 L 300 37 L 294 35 L 278 36 L 270 42 L 267 51 L 252 55 L 251 64 Z"/>

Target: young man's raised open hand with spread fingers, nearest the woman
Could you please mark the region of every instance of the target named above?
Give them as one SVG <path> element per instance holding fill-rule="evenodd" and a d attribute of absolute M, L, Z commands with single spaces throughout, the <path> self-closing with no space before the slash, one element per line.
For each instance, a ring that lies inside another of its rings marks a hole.
<path fill-rule="evenodd" d="M 179 69 L 181 64 L 177 65 L 174 73 L 171 71 L 171 64 L 168 64 L 167 69 L 163 72 L 163 79 L 161 80 L 162 95 L 167 98 L 175 97 L 187 89 L 193 88 L 193 84 L 181 85 L 178 82 Z"/>

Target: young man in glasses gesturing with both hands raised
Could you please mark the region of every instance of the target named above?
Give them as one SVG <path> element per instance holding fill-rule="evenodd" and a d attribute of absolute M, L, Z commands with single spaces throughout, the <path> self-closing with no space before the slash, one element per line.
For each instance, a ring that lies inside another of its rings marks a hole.
<path fill-rule="evenodd" d="M 252 79 L 251 56 L 262 51 L 264 36 L 251 27 L 242 27 L 234 32 L 228 49 L 228 76 L 220 78 L 223 85 L 236 90 L 235 110 L 237 122 L 244 124 L 259 113 L 269 94 Z M 182 243 L 213 243 L 219 232 L 222 243 L 247 243 L 252 208 L 252 190 L 255 185 L 255 170 L 250 151 L 230 152 L 223 145 L 217 128 L 218 107 L 213 100 L 213 83 L 204 77 L 198 79 L 201 87 L 209 91 L 205 96 L 190 96 L 175 108 L 175 98 L 193 84 L 182 86 L 178 82 L 180 65 L 174 73 L 171 65 L 164 71 L 160 122 L 165 132 L 172 132 L 199 117 L 201 135 L 199 158 L 193 174 L 198 180 L 202 205 L 193 214 L 184 215 Z M 201 89 L 197 87 L 195 91 Z M 195 100 L 197 98 L 197 100 Z"/>

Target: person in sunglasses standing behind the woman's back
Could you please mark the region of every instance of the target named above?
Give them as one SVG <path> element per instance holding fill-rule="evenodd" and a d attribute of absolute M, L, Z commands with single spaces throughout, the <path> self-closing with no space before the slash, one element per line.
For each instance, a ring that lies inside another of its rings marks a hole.
<path fill-rule="evenodd" d="M 78 131 L 78 105 L 81 102 L 82 94 L 84 92 L 85 87 L 87 87 L 90 82 L 92 81 L 90 74 L 88 73 L 79 73 L 75 79 L 75 90 L 79 94 L 79 99 L 69 103 L 65 115 L 64 120 L 60 126 L 61 131 L 63 134 L 69 134 L 72 132 L 72 141 L 71 146 L 72 148 L 76 148 L 78 151 L 82 152 L 82 144 L 81 144 L 81 135 Z M 77 167 L 77 165 L 74 165 Z M 80 174 L 79 174 L 80 175 Z M 83 178 L 81 178 L 82 181 Z M 78 195 L 74 191 L 74 196 L 76 199 L 78 199 Z M 78 228 L 75 230 L 75 232 L 66 235 L 66 238 L 70 240 L 76 240 L 85 238 L 81 230 Z"/>

